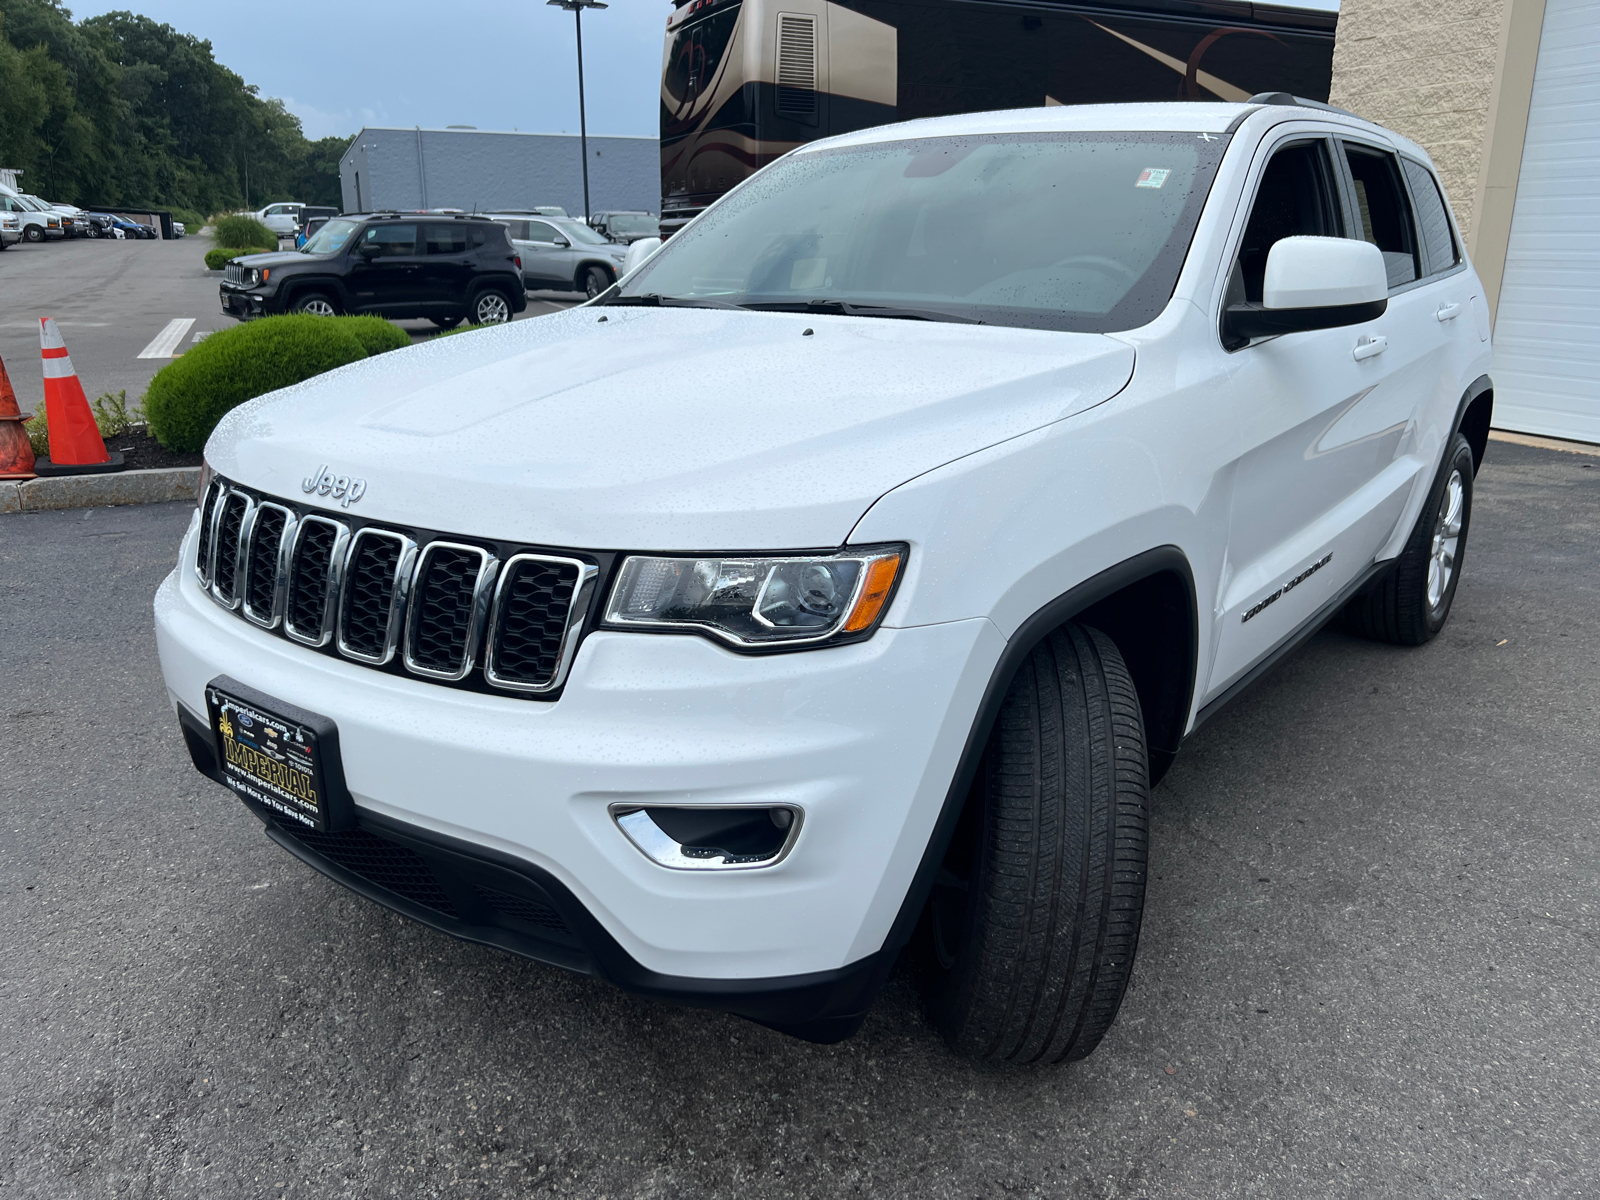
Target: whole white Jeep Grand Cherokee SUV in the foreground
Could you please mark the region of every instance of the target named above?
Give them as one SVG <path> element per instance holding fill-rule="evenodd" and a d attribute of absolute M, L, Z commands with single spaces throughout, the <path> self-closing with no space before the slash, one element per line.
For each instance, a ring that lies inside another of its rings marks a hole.
<path fill-rule="evenodd" d="M 958 1051 L 1082 1058 L 1184 736 L 1450 614 L 1488 362 L 1427 155 L 1325 106 L 818 141 L 592 304 L 224 418 L 162 667 L 438 930 L 813 1040 L 915 942 Z"/>

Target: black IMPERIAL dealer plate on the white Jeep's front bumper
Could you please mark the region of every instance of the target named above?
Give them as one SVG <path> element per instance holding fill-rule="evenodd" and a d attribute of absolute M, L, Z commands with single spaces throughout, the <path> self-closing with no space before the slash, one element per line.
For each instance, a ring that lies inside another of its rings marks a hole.
<path fill-rule="evenodd" d="M 222 781 L 240 798 L 304 829 L 352 824 L 331 720 L 226 675 L 206 685 L 206 707 Z"/>

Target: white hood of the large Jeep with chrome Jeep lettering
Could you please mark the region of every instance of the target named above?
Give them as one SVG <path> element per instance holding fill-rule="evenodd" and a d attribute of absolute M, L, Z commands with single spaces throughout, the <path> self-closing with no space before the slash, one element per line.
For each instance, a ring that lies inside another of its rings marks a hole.
<path fill-rule="evenodd" d="M 456 534 L 822 547 L 885 491 L 1098 405 L 1131 374 L 1133 349 L 1091 333 L 586 306 L 261 397 L 222 419 L 206 456 L 296 501 L 322 467 L 363 478 L 350 515 Z"/>

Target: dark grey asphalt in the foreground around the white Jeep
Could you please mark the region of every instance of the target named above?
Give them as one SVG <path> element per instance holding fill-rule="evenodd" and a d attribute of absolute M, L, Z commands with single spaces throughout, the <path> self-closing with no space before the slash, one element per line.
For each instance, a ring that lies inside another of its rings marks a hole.
<path fill-rule="evenodd" d="M 813 1046 L 301 866 L 162 690 L 189 515 L 0 517 L 0 1195 L 1600 1194 L 1600 458 L 1491 443 L 1434 643 L 1325 630 L 1189 741 L 1122 1016 L 1021 1070 L 904 963 Z"/>

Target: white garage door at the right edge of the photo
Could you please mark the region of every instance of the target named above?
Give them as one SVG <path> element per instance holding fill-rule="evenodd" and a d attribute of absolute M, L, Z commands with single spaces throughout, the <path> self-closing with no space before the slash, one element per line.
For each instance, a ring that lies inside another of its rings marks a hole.
<path fill-rule="evenodd" d="M 1600 442 L 1600 0 L 1547 0 L 1494 318 L 1494 424 Z"/>

